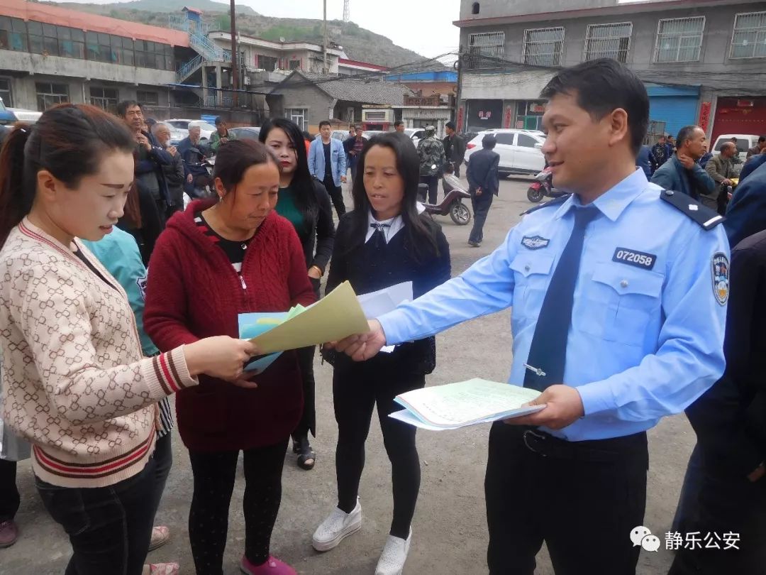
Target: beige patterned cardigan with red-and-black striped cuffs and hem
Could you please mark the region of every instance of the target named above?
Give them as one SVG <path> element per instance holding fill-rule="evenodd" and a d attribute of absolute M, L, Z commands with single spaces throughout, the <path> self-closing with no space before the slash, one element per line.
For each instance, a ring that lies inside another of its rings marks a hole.
<path fill-rule="evenodd" d="M 27 219 L 0 250 L 3 418 L 33 444 L 38 478 L 103 487 L 146 465 L 155 403 L 198 382 L 183 347 L 142 357 L 125 291 L 77 248 L 111 287 Z"/>

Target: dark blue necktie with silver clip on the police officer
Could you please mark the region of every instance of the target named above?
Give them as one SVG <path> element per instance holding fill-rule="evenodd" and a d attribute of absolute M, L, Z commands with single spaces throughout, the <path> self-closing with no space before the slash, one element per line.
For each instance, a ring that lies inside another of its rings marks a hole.
<path fill-rule="evenodd" d="M 575 209 L 575 228 L 561 252 L 537 318 L 524 386 L 542 391 L 554 383 L 564 383 L 567 334 L 575 301 L 575 282 L 580 269 L 585 228 L 598 215 L 593 207 Z"/>

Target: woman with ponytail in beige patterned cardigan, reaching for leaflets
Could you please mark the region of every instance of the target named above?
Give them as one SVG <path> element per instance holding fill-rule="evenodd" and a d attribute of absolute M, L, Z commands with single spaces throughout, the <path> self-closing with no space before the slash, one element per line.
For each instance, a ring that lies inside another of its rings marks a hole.
<path fill-rule="evenodd" d="M 74 550 L 67 575 L 178 573 L 143 565 L 156 403 L 202 373 L 239 383 L 254 352 L 214 337 L 143 357 L 125 291 L 77 239 L 123 215 L 134 147 L 116 117 L 62 104 L 0 153 L 3 420 L 33 445 L 38 493 Z"/>

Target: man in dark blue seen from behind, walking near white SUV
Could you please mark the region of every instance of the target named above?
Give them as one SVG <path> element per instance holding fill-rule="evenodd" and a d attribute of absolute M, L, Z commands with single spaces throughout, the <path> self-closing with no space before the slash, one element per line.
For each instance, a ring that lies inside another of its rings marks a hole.
<path fill-rule="evenodd" d="M 494 196 L 500 189 L 500 178 L 497 166 L 500 156 L 494 151 L 496 144 L 495 136 L 487 134 L 481 141 L 482 149 L 473 153 L 466 169 L 473 204 L 473 228 L 468 236 L 468 244 L 478 248 L 484 238 L 484 222 L 489 213 Z"/>

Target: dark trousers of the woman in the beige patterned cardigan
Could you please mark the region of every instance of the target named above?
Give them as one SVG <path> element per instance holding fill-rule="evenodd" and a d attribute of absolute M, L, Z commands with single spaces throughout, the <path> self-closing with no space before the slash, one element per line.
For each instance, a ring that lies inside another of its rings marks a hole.
<path fill-rule="evenodd" d="M 152 536 L 154 458 L 110 487 L 58 487 L 39 478 L 35 484 L 72 544 L 65 575 L 140 575 Z"/>

